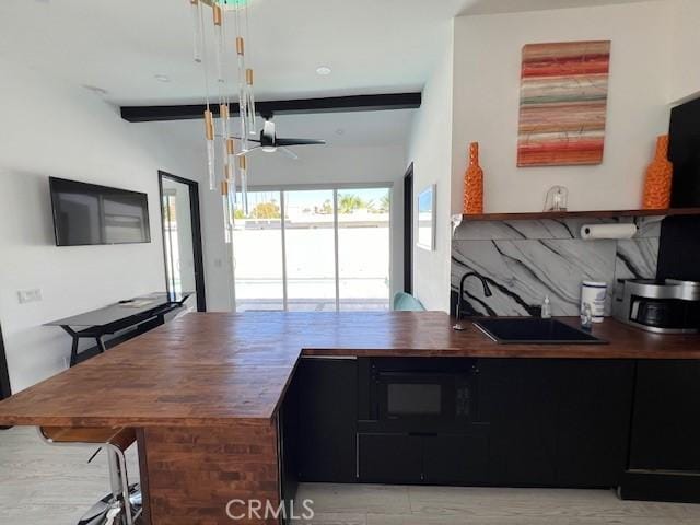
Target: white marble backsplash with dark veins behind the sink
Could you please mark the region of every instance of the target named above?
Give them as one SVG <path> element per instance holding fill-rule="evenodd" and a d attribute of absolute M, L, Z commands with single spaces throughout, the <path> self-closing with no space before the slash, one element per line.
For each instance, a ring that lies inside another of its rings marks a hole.
<path fill-rule="evenodd" d="M 549 295 L 553 315 L 579 315 L 581 282 L 608 283 L 610 315 L 618 279 L 655 278 L 663 217 L 465 221 L 452 241 L 452 298 L 467 271 L 483 277 L 493 295 L 483 296 L 478 279 L 467 279 L 464 301 L 482 315 L 539 315 Z M 634 222 L 630 240 L 581 238 L 583 224 Z"/>

